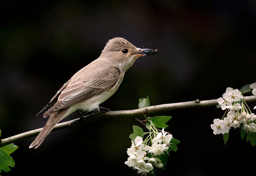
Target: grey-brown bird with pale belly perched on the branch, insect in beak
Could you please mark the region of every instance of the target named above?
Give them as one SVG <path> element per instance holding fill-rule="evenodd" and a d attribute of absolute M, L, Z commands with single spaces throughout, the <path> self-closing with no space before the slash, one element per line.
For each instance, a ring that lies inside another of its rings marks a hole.
<path fill-rule="evenodd" d="M 99 58 L 76 72 L 37 114 L 45 111 L 43 116 L 50 117 L 29 148 L 38 148 L 55 125 L 71 113 L 100 111 L 99 105 L 117 91 L 135 60 L 150 55 L 144 52 L 148 50 L 137 48 L 124 38 L 108 40 Z"/>

